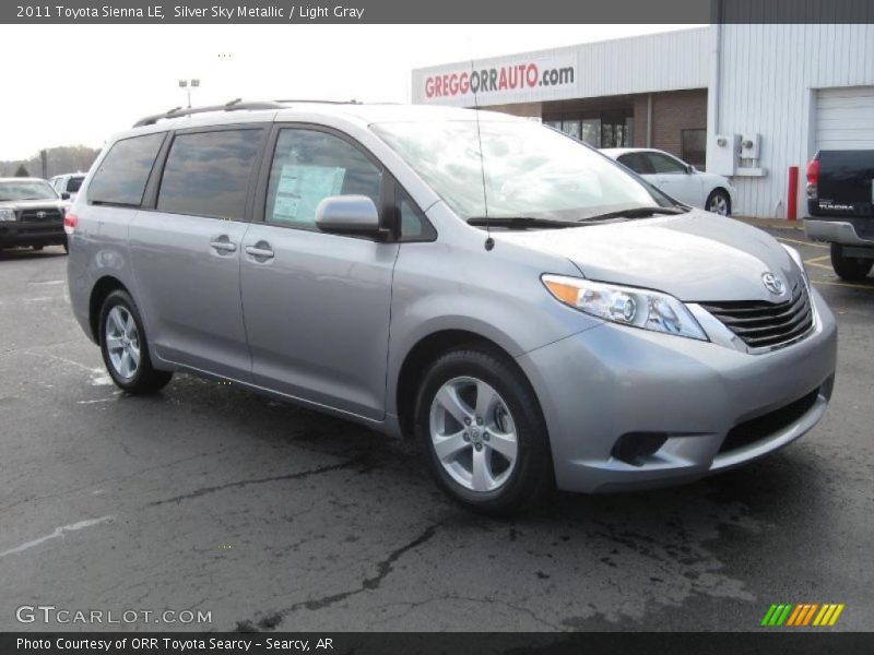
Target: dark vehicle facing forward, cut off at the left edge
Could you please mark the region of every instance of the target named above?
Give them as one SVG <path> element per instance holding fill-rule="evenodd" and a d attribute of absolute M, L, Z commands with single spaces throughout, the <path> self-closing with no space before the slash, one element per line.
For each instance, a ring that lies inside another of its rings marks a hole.
<path fill-rule="evenodd" d="M 38 178 L 0 178 L 0 250 L 63 246 L 66 204 Z"/>

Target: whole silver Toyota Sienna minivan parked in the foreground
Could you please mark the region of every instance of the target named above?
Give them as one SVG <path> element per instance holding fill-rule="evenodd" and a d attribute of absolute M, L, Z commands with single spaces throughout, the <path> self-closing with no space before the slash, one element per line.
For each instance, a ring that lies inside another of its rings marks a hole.
<path fill-rule="evenodd" d="M 73 310 L 121 389 L 192 371 L 416 434 L 482 511 L 725 471 L 831 394 L 834 317 L 794 250 L 503 115 L 149 117 L 66 225 Z"/>

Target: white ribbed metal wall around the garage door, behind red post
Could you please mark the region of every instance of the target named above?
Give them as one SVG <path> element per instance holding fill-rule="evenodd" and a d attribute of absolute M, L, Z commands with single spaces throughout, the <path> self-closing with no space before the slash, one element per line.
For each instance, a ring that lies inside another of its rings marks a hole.
<path fill-rule="evenodd" d="M 714 134 L 761 135 L 765 177 L 734 177 L 735 213 L 786 216 L 788 169 L 816 152 L 816 90 L 874 84 L 874 25 L 713 25 L 708 168 Z M 779 203 L 779 204 L 778 204 Z"/>

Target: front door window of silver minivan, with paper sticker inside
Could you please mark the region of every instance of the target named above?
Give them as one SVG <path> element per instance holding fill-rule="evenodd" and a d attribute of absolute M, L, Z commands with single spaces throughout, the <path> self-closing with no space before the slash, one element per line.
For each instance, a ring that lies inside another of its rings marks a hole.
<path fill-rule="evenodd" d="M 367 195 L 378 207 L 381 181 L 380 169 L 339 136 L 283 129 L 273 153 L 264 219 L 312 229 L 324 198 Z"/>

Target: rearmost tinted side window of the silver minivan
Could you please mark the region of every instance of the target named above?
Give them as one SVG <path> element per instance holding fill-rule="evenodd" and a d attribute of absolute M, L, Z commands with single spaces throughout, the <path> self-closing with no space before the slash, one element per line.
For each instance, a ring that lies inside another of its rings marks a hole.
<path fill-rule="evenodd" d="M 88 202 L 140 206 L 164 134 L 117 141 L 88 187 Z"/>

